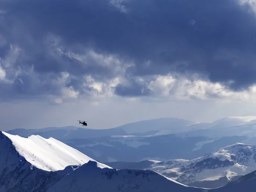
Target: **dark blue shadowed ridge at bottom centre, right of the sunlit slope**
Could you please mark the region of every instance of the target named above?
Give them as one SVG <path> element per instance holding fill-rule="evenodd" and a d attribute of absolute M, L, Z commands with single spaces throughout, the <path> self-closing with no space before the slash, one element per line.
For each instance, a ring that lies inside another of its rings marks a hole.
<path fill-rule="evenodd" d="M 84 182 L 86 181 L 86 182 Z M 64 176 L 47 192 L 204 192 L 150 170 L 99 169 L 93 161 Z"/>

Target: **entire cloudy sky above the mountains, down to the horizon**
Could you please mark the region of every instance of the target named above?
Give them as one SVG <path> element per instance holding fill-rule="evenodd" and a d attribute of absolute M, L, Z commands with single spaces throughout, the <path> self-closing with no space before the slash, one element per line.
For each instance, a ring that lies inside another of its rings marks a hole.
<path fill-rule="evenodd" d="M 0 0 L 0 130 L 256 115 L 256 0 Z"/>

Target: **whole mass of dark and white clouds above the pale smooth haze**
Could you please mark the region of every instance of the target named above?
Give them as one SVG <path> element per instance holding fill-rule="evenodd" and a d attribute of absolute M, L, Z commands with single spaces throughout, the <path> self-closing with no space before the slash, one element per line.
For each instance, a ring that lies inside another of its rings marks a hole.
<path fill-rule="evenodd" d="M 0 98 L 249 98 L 253 3 L 0 0 Z"/>

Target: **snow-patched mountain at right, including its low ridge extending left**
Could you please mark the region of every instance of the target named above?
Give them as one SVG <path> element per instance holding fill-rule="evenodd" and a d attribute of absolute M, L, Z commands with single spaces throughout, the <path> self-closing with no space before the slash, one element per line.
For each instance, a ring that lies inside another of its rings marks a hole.
<path fill-rule="evenodd" d="M 236 143 L 193 160 L 106 164 L 117 169 L 150 169 L 189 186 L 215 188 L 256 170 L 256 145 Z"/>

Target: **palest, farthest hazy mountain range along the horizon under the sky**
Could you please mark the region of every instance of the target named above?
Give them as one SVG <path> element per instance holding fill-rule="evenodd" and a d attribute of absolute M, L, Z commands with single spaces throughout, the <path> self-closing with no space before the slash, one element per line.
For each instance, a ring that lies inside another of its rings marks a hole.
<path fill-rule="evenodd" d="M 238 135 L 239 131 L 244 128 L 250 129 L 246 132 L 243 131 L 240 135 L 252 136 L 256 135 L 256 116 L 241 116 L 241 117 L 227 117 L 219 119 L 211 123 L 196 123 L 186 119 L 178 118 L 160 118 L 133 122 L 110 129 L 90 129 L 80 128 L 75 126 L 67 127 L 49 127 L 42 129 L 13 129 L 6 131 L 9 134 L 19 135 L 21 137 L 29 137 L 30 135 L 40 134 L 44 137 L 55 137 L 58 140 L 70 139 L 87 139 L 87 138 L 100 138 L 107 136 L 158 136 L 163 134 L 188 134 L 191 135 L 206 133 L 218 133 L 218 136 Z M 218 130 L 218 131 L 216 131 Z M 221 131 L 222 130 L 222 131 Z M 250 135 L 249 135 L 250 134 Z"/>

